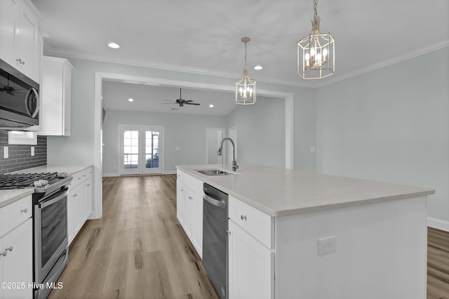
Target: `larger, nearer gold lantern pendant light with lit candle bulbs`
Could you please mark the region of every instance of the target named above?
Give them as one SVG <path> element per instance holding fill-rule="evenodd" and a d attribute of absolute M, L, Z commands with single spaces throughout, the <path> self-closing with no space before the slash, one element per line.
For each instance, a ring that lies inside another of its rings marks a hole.
<path fill-rule="evenodd" d="M 297 42 L 297 75 L 302 79 L 321 79 L 335 73 L 335 41 L 330 33 L 320 33 L 320 17 L 311 20 L 311 34 Z"/>

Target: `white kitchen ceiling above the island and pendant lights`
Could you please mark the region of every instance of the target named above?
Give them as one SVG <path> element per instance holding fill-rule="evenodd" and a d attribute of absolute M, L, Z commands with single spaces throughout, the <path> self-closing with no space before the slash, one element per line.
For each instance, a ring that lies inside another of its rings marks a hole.
<path fill-rule="evenodd" d="M 296 42 L 310 33 L 311 0 L 32 3 L 42 16 L 46 55 L 239 79 L 241 37 L 250 36 L 250 78 L 296 86 L 323 86 L 449 45 L 448 0 L 319 0 L 321 32 L 335 38 L 335 75 L 303 80 L 296 74 Z M 108 48 L 110 41 L 121 47 Z M 263 69 L 254 70 L 259 64 Z"/>

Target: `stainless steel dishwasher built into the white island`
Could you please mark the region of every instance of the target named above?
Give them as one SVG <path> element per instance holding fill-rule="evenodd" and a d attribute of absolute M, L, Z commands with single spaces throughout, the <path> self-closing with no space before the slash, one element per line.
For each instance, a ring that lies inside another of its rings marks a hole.
<path fill-rule="evenodd" d="M 227 296 L 227 194 L 203 185 L 203 266 L 220 298 Z"/>

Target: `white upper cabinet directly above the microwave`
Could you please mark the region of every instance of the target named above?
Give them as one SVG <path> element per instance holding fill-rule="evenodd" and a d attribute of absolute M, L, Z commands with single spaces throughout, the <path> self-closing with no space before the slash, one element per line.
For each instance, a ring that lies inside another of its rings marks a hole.
<path fill-rule="evenodd" d="M 0 1 L 0 58 L 40 83 L 42 43 L 36 13 L 29 0 Z"/>

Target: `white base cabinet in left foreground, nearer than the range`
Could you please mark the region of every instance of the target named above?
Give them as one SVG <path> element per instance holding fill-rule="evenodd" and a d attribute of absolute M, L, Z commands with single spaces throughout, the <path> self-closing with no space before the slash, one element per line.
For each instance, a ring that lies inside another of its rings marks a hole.
<path fill-rule="evenodd" d="M 32 225 L 31 195 L 0 208 L 2 299 L 32 298 Z"/>

